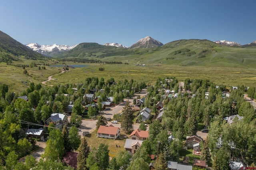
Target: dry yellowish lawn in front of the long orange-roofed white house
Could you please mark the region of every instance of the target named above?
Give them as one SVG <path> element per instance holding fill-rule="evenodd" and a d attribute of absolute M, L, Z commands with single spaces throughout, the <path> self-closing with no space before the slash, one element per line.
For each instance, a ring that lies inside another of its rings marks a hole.
<path fill-rule="evenodd" d="M 121 134 L 124 134 L 124 133 L 121 132 Z M 126 136 L 128 136 L 128 134 Z M 117 138 L 116 140 L 114 140 L 114 139 L 108 139 L 108 138 L 99 138 L 97 137 L 96 130 L 94 130 L 92 133 L 85 136 L 85 138 L 90 148 L 94 148 L 94 147 L 98 148 L 98 146 L 100 146 L 101 143 L 107 144 L 110 157 L 114 157 L 118 152 L 125 150 L 124 144 L 126 139 Z M 120 147 L 116 147 L 116 145 Z"/>

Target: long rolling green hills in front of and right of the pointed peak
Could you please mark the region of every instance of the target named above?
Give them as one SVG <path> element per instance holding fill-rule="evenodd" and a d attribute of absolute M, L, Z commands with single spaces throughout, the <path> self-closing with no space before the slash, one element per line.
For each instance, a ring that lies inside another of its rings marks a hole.
<path fill-rule="evenodd" d="M 140 49 L 123 49 L 97 43 L 81 43 L 74 49 L 63 52 L 56 57 L 121 61 L 130 64 L 161 63 L 180 66 L 255 67 L 256 47 L 232 47 L 209 40 L 178 40 L 162 47 Z"/>

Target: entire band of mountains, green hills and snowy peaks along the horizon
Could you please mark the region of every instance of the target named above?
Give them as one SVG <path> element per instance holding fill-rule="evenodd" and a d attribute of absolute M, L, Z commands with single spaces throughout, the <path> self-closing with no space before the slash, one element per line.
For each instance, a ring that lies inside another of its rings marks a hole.
<path fill-rule="evenodd" d="M 222 41 L 222 43 L 224 42 Z M 232 44 L 227 41 L 225 43 Z M 30 47 L 34 49 L 42 46 L 36 43 L 30 44 Z M 60 49 L 62 51 L 58 51 L 60 47 L 63 47 L 63 49 Z M 256 63 L 256 42 L 247 45 L 230 46 L 209 40 L 191 39 L 176 40 L 163 45 L 153 38 L 146 37 L 129 48 L 121 47 L 117 43 L 108 43 L 106 45 L 80 43 L 69 47 L 56 44 L 51 46 L 45 45 L 45 49 L 52 50 L 51 57 L 64 62 L 88 62 L 93 60 L 118 61 L 129 64 L 161 63 L 165 65 L 206 67 L 255 67 L 254 63 Z M 67 49 L 69 50 L 66 51 Z M 0 61 L 22 61 L 24 58 L 42 60 L 43 62 L 49 59 L 44 55 L 33 51 L 7 34 L 0 32 Z"/>

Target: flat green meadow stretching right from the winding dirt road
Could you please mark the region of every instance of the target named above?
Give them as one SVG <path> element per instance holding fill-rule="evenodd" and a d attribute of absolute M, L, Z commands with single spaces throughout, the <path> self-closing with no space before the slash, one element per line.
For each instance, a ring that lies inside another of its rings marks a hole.
<path fill-rule="evenodd" d="M 66 63 L 72 65 L 72 63 Z M 73 63 L 74 64 L 74 63 Z M 77 64 L 77 63 L 75 63 Z M 104 71 L 99 71 L 104 68 Z M 85 67 L 69 68 L 65 73 L 53 76 L 54 80 L 47 82 L 49 85 L 61 85 L 66 83 L 83 83 L 86 77 L 103 77 L 105 80 L 114 77 L 115 81 L 134 79 L 153 84 L 156 79 L 164 77 L 177 77 L 178 81 L 186 78 L 209 79 L 217 85 L 228 87 L 246 85 L 256 86 L 256 69 L 232 68 L 232 67 L 195 67 L 175 65 L 138 66 L 135 64 L 90 64 Z"/>

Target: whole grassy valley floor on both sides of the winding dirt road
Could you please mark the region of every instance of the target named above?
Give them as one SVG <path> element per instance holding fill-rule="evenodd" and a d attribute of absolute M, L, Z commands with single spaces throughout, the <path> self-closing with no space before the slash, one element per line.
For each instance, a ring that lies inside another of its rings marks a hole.
<path fill-rule="evenodd" d="M 65 62 L 58 65 L 77 65 L 83 63 Z M 84 83 L 86 77 L 103 77 L 105 80 L 114 78 L 115 81 L 130 80 L 144 81 L 154 84 L 156 79 L 165 77 L 177 77 L 178 81 L 186 78 L 209 79 L 216 85 L 226 85 L 227 87 L 246 85 L 256 86 L 256 68 L 237 67 L 204 67 L 204 66 L 179 66 L 165 64 L 145 64 L 144 66 L 134 63 L 126 64 L 84 64 L 85 67 L 69 67 L 69 71 L 60 73 L 62 67 L 46 66 L 46 69 L 38 67 L 28 68 L 28 74 L 24 74 L 22 67 L 15 67 L 0 63 L 0 83 L 6 83 L 14 91 L 26 89 L 30 82 L 35 84 L 46 81 L 50 75 L 52 80 L 46 85 L 64 85 L 73 83 Z M 104 71 L 99 71 L 104 68 Z"/>

